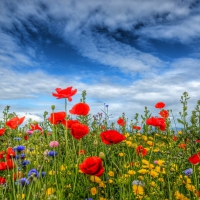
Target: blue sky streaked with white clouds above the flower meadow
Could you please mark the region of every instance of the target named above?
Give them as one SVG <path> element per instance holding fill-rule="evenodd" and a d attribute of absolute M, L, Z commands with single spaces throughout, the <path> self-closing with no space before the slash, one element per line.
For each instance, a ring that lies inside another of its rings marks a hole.
<path fill-rule="evenodd" d="M 200 99 L 199 0 L 1 0 L 0 110 L 42 120 L 64 110 L 55 88 L 83 90 L 92 115 L 188 113 Z M 0 118 L 2 112 L 0 113 Z"/>

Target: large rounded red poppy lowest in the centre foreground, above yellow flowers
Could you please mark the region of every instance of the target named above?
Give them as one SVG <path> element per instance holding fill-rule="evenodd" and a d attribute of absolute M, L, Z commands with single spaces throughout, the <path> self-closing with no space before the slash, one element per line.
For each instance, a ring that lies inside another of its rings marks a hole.
<path fill-rule="evenodd" d="M 104 173 L 104 167 L 102 164 L 102 160 L 97 157 L 89 157 L 86 158 L 80 165 L 79 169 L 88 175 L 94 175 L 100 177 Z"/>

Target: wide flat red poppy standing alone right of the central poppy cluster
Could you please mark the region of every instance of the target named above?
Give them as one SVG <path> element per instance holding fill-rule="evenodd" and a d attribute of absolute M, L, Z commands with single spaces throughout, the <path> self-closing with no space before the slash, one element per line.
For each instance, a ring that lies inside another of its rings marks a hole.
<path fill-rule="evenodd" d="M 111 145 L 111 144 L 117 144 L 119 142 L 122 142 L 126 139 L 124 135 L 121 133 L 115 131 L 115 130 L 107 130 L 100 134 L 101 140 L 104 144 Z"/>

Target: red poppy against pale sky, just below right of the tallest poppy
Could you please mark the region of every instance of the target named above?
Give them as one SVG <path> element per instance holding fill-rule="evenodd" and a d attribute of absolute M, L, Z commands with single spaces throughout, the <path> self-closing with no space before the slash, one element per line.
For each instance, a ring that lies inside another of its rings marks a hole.
<path fill-rule="evenodd" d="M 86 116 L 90 111 L 90 107 L 86 103 L 77 103 L 69 111 L 72 115 Z"/>

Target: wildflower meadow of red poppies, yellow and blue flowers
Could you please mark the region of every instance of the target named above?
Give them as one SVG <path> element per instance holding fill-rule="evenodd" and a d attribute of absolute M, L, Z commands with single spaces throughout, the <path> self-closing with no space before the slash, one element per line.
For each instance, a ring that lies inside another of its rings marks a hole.
<path fill-rule="evenodd" d="M 178 119 L 158 101 L 157 116 L 145 107 L 111 123 L 108 105 L 90 113 L 86 91 L 68 110 L 76 93 L 56 88 L 63 111 L 52 105 L 41 122 L 3 110 L 0 199 L 200 199 L 200 101 L 189 115 L 184 92 Z"/>

